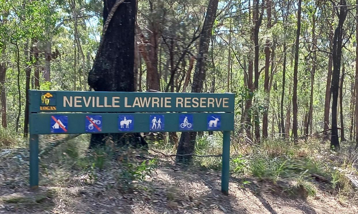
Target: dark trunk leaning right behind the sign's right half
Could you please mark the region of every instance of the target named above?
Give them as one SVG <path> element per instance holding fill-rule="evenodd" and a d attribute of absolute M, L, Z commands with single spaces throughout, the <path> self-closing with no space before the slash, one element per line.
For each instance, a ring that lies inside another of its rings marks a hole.
<path fill-rule="evenodd" d="M 206 12 L 203 29 L 200 33 L 199 52 L 197 56 L 197 65 L 194 71 L 192 92 L 200 93 L 203 89 L 206 70 L 205 61 L 208 55 L 211 31 L 213 29 L 214 20 L 216 18 L 216 11 L 218 8 L 219 0 L 210 0 Z M 197 132 L 182 132 L 176 154 L 190 154 L 194 153 L 195 139 Z M 176 156 L 176 162 L 189 162 L 191 156 Z"/>

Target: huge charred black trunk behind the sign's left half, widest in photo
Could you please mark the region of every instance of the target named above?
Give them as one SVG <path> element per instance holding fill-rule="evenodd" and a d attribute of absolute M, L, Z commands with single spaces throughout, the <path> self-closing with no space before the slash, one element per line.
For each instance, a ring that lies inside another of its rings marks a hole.
<path fill-rule="evenodd" d="M 103 2 L 104 27 L 100 47 L 88 75 L 88 85 L 95 91 L 134 91 L 134 28 L 136 1 L 125 0 L 116 10 L 116 0 Z M 109 17 L 107 19 L 107 17 Z M 106 30 L 105 30 L 106 29 Z M 90 147 L 105 144 L 105 137 L 119 145 L 145 144 L 140 134 L 92 134 Z"/>

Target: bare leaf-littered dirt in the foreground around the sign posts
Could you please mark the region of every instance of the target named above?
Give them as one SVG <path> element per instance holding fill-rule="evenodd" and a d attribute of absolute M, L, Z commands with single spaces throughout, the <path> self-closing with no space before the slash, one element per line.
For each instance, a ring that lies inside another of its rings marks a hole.
<path fill-rule="evenodd" d="M 358 213 L 355 205 L 341 204 L 323 190 L 307 200 L 282 198 L 253 178 L 244 179 L 251 181 L 247 185 L 242 185 L 241 178 L 232 178 L 226 196 L 220 192 L 221 172 L 179 167 L 168 161 L 161 162 L 152 178 L 131 183 L 136 188 L 123 191 L 118 188 L 123 181 L 116 178 L 116 167 L 98 171 L 96 181 L 90 183 L 91 174 L 43 160 L 41 187 L 32 191 L 28 189 L 26 157 L 24 150 L 0 159 L 0 213 Z"/>

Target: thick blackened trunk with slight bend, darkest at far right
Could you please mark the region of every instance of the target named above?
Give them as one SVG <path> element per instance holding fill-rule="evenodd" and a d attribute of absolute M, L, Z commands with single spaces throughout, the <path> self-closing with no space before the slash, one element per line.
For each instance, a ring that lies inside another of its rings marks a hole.
<path fill-rule="evenodd" d="M 338 14 L 338 26 L 334 31 L 333 37 L 333 73 L 331 83 L 332 93 L 332 136 L 331 136 L 331 148 L 339 149 L 338 140 L 338 128 L 337 128 L 337 106 L 338 106 L 338 89 L 339 89 L 339 74 L 340 63 L 342 56 L 342 36 L 343 36 L 343 23 L 347 16 L 347 3 L 345 0 L 340 0 L 339 14 Z"/>

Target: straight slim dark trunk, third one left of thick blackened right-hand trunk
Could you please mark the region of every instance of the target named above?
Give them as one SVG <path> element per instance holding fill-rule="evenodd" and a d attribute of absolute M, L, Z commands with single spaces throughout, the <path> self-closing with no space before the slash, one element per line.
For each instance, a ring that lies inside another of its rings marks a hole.
<path fill-rule="evenodd" d="M 299 46 L 300 46 L 300 32 L 301 32 L 301 4 L 302 0 L 298 1 L 298 11 L 297 11 L 297 32 L 296 32 L 296 42 L 295 42 L 295 65 L 293 72 L 293 97 L 292 97 L 292 107 L 293 107 L 293 127 L 292 133 L 294 141 L 297 142 L 297 73 L 298 73 L 298 57 L 299 57 Z"/>

